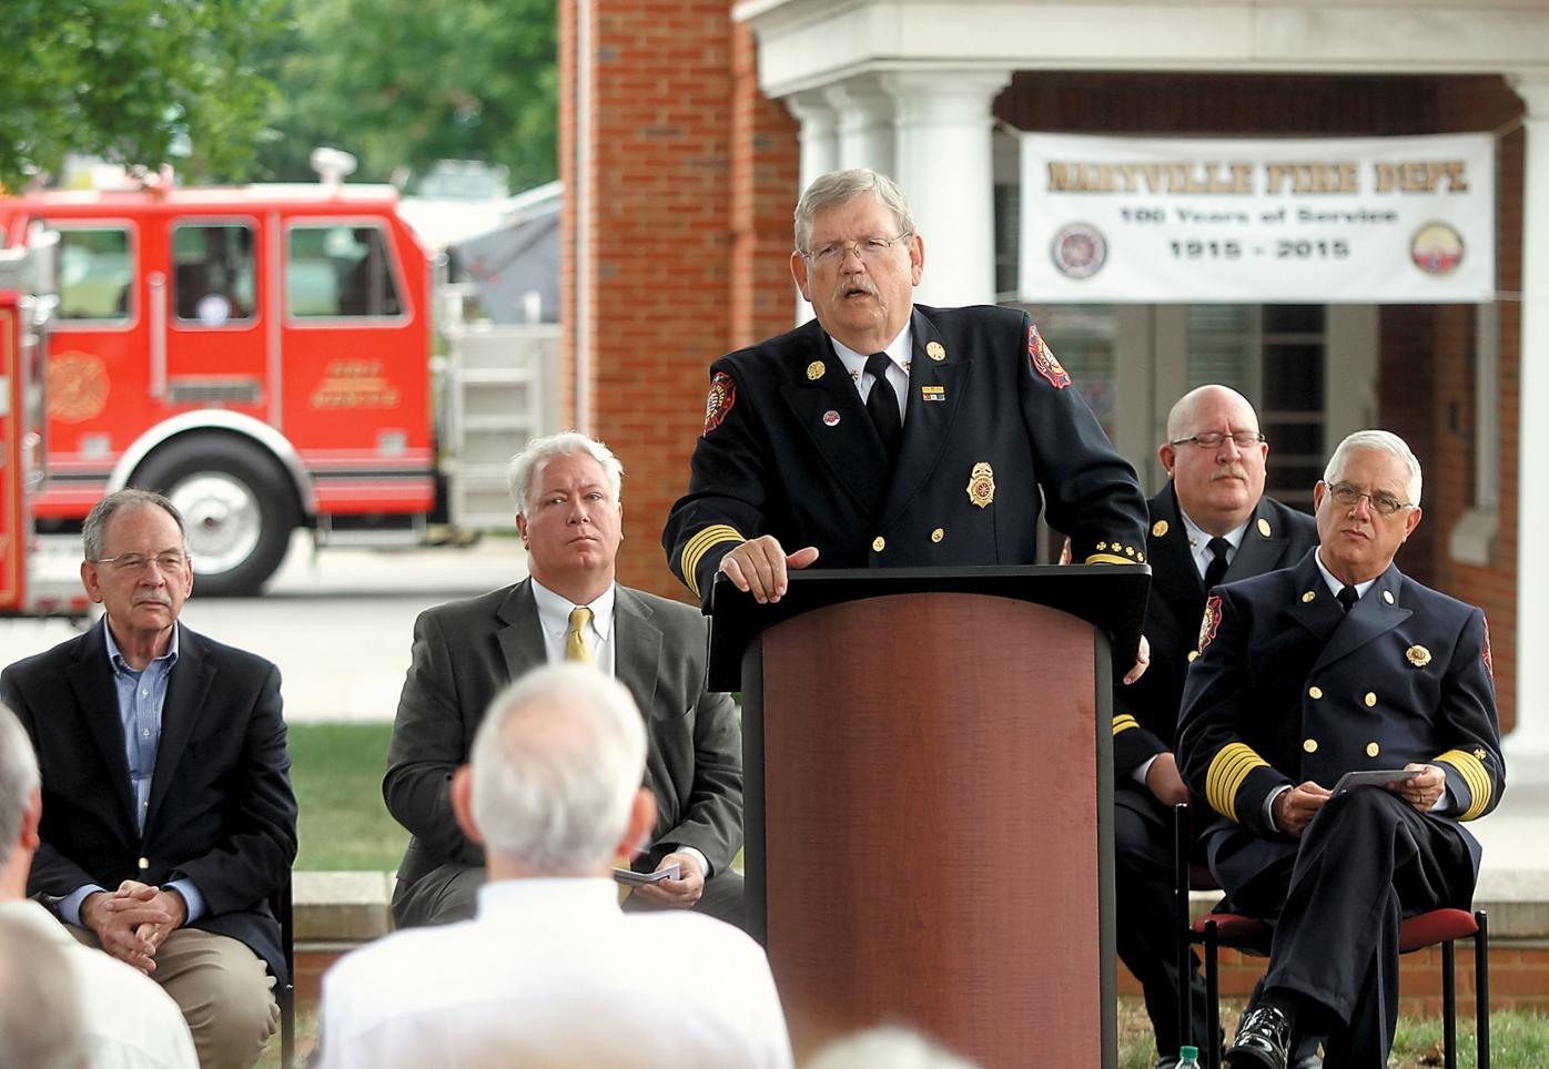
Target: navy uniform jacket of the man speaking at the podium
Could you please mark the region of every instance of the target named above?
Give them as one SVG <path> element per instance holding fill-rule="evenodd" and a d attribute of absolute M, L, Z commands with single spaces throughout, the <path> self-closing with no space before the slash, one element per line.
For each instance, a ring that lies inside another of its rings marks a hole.
<path fill-rule="evenodd" d="M 1075 560 L 1145 560 L 1134 469 L 1027 316 L 915 306 L 911 322 L 891 475 L 816 320 L 716 360 L 689 489 L 661 538 L 689 589 L 708 597 L 720 558 L 765 534 L 785 552 L 816 546 L 818 568 L 1032 565 L 1042 503 Z"/>

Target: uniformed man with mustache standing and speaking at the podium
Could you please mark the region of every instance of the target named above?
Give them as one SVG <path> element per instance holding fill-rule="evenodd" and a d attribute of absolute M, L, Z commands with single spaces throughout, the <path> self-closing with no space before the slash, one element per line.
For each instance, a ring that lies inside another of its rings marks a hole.
<path fill-rule="evenodd" d="M 816 319 L 716 360 L 668 563 L 761 602 L 790 568 L 1032 565 L 1038 517 L 1078 562 L 1145 560 L 1145 498 L 1029 317 L 926 308 L 925 240 L 877 172 L 823 175 L 792 275 Z"/>

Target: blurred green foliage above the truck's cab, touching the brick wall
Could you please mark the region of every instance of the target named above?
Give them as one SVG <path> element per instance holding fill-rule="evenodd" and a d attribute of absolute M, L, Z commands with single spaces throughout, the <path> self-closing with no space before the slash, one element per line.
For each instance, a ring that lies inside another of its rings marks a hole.
<path fill-rule="evenodd" d="M 555 0 L 290 2 L 263 178 L 310 179 L 324 144 L 366 181 L 437 159 L 502 164 L 513 189 L 558 173 Z"/>

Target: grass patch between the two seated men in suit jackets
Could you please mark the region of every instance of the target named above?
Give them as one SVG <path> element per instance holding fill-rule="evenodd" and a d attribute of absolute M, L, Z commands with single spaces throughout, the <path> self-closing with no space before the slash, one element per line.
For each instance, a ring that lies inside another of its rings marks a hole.
<path fill-rule="evenodd" d="M 383 804 L 389 735 L 392 724 L 290 726 L 297 869 L 398 868 L 409 832 Z"/>

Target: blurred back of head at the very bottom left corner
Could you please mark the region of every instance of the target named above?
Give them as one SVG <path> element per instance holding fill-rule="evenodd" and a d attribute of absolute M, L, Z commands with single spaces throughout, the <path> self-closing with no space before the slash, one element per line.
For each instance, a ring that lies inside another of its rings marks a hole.
<path fill-rule="evenodd" d="M 87 1035 L 64 948 L 0 917 L 0 1069 L 77 1069 Z"/>

